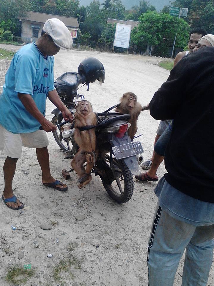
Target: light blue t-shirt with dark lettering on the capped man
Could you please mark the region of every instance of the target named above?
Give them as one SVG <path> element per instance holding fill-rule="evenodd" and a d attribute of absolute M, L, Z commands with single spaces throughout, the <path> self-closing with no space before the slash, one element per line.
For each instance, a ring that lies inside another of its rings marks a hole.
<path fill-rule="evenodd" d="M 54 57 L 45 58 L 35 42 L 13 57 L 0 95 L 0 124 L 12 133 L 29 133 L 40 123 L 24 107 L 18 92 L 30 94 L 45 116 L 48 91 L 54 90 Z"/>

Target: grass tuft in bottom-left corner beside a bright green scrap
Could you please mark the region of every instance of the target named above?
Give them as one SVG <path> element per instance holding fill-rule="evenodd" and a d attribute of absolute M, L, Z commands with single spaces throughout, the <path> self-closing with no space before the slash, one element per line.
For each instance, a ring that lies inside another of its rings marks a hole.
<path fill-rule="evenodd" d="M 26 269 L 14 264 L 7 270 L 5 279 L 15 285 L 21 285 L 26 283 L 34 275 L 34 272 L 34 269 Z"/>

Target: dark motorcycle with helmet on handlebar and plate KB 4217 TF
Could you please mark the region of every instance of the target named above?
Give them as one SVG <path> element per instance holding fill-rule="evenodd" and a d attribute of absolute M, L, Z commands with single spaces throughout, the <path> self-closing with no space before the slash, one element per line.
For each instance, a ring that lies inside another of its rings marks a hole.
<path fill-rule="evenodd" d="M 75 114 L 74 97 L 84 98 L 83 95 L 77 94 L 78 86 L 87 85 L 89 89 L 89 83 L 95 80 L 103 83 L 104 79 L 105 70 L 102 63 L 95 58 L 87 58 L 80 63 L 78 73 L 66 72 L 56 79 L 54 85 L 62 102 Z M 92 173 L 100 176 L 104 188 L 113 200 L 126 203 L 133 195 L 133 175 L 139 175 L 141 172 L 139 164 L 143 161 L 141 154 L 144 150 L 141 142 L 132 142 L 127 134 L 130 115 L 110 112 L 114 107 L 96 113 L 97 125 L 85 126 L 81 130 L 95 128 L 97 158 Z M 58 108 L 51 113 L 54 114 L 52 123 L 58 127 L 53 132 L 54 139 L 59 147 L 69 154 L 67 158 L 72 158 L 78 152 L 74 140 L 74 122 L 64 122 Z M 70 171 L 72 169 L 66 172 Z"/>

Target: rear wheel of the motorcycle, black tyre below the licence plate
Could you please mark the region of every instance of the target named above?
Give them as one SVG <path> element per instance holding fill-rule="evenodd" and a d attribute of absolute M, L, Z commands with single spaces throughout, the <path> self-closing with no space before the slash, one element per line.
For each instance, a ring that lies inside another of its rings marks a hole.
<path fill-rule="evenodd" d="M 116 176 L 110 166 L 109 159 L 111 156 L 113 159 L 114 169 L 116 169 Z M 100 175 L 100 179 L 108 195 L 117 203 L 128 202 L 133 195 L 134 180 L 124 161 L 122 159 L 117 160 L 114 157 L 110 144 L 103 144 L 99 148 L 98 160 L 101 163 L 100 166 L 103 166 L 103 169 L 107 172 L 106 178 L 110 178 L 111 175 L 114 177 L 112 177 L 111 181 L 108 181 Z"/>

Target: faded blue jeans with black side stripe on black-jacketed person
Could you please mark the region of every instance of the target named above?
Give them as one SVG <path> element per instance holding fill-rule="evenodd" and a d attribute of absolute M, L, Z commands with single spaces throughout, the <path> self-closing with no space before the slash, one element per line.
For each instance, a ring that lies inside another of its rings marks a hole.
<path fill-rule="evenodd" d="M 159 205 L 155 212 L 147 264 L 149 286 L 172 286 L 185 251 L 182 286 L 206 286 L 213 260 L 214 224 L 193 226 L 176 220 Z"/>

